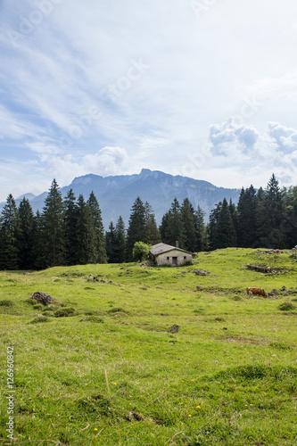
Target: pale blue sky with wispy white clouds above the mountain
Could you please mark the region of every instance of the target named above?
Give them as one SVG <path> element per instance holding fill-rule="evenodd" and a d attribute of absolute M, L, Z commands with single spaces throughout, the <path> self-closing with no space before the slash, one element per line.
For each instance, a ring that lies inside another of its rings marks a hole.
<path fill-rule="evenodd" d="M 162 170 L 296 185 L 295 0 L 0 0 L 0 201 Z"/>

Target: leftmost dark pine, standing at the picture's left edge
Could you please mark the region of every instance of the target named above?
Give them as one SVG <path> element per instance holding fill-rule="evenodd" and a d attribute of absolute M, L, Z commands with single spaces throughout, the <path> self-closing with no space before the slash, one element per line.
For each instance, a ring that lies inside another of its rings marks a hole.
<path fill-rule="evenodd" d="M 9 194 L 1 212 L 0 219 L 0 268 L 18 269 L 19 250 L 17 247 L 17 236 L 20 233 L 18 210 Z"/>

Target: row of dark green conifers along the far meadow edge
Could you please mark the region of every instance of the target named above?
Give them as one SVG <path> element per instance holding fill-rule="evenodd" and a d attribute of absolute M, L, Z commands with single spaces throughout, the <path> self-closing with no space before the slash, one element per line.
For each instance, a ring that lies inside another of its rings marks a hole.
<path fill-rule="evenodd" d="M 102 212 L 92 192 L 87 201 L 70 189 L 62 199 L 54 180 L 42 212 L 29 200 L 19 207 L 10 194 L 0 217 L 0 269 L 42 269 L 87 263 L 132 261 L 136 242 L 166 243 L 189 252 L 238 247 L 291 248 L 296 243 L 297 186 L 280 189 L 272 175 L 258 191 L 242 188 L 237 206 L 225 198 L 205 214 L 185 198 L 171 203 L 157 227 L 152 206 L 136 198 L 126 229 L 121 217 L 103 228 Z"/>

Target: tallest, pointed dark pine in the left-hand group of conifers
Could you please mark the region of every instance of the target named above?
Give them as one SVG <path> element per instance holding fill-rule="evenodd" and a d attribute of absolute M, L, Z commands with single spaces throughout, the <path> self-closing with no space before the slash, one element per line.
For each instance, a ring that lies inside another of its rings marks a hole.
<path fill-rule="evenodd" d="M 45 206 L 41 215 L 40 236 L 43 252 L 38 263 L 42 265 L 42 268 L 64 265 L 66 262 L 64 204 L 55 179 L 45 198 Z"/>

